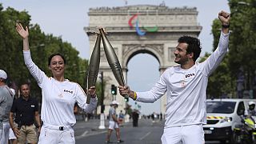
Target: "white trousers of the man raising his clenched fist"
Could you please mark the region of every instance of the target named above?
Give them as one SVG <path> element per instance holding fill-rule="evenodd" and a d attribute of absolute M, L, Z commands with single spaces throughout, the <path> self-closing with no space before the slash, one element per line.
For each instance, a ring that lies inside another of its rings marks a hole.
<path fill-rule="evenodd" d="M 204 144 L 202 124 L 166 128 L 161 141 L 162 144 Z"/>

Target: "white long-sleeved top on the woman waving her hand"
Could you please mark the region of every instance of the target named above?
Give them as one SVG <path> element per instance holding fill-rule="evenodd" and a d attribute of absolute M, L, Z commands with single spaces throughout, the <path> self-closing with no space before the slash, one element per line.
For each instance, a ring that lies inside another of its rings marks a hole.
<path fill-rule="evenodd" d="M 42 89 L 42 122 L 55 126 L 74 126 L 74 103 L 78 102 L 86 113 L 91 113 L 97 106 L 97 98 L 90 98 L 90 104 L 86 104 L 86 94 L 82 87 L 75 82 L 65 79 L 59 82 L 49 78 L 34 64 L 30 51 L 23 51 L 24 60 L 30 74 L 38 82 Z"/>

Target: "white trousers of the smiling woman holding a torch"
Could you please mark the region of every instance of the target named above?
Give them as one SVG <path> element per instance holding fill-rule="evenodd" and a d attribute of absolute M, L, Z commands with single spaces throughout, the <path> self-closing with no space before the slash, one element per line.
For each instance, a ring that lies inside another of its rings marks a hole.
<path fill-rule="evenodd" d="M 42 125 L 38 144 L 75 144 L 74 130 L 55 130 Z"/>

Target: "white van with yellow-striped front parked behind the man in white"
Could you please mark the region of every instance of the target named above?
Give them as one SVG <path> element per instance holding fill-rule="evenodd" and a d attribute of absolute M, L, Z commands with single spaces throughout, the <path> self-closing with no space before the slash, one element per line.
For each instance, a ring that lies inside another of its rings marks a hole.
<path fill-rule="evenodd" d="M 207 99 L 207 124 L 203 126 L 205 140 L 218 140 L 222 143 L 232 143 L 235 126 L 241 125 L 241 115 L 248 110 L 248 102 L 255 99 Z"/>

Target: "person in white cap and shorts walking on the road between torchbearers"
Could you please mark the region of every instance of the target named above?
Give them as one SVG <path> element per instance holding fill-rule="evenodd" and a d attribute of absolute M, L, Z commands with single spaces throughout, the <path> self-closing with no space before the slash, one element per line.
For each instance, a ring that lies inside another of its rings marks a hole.
<path fill-rule="evenodd" d="M 110 113 L 109 113 L 109 119 L 110 119 L 110 123 L 109 123 L 109 130 L 107 132 L 106 135 L 106 143 L 110 143 L 110 136 L 113 130 L 115 130 L 117 138 L 118 138 L 118 143 L 123 142 L 120 138 L 120 129 L 119 129 L 119 121 L 117 118 L 117 114 L 115 109 L 118 107 L 118 102 L 113 101 L 110 104 Z"/>

